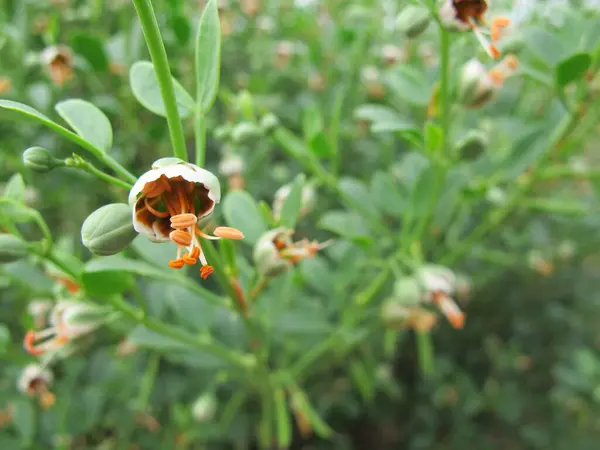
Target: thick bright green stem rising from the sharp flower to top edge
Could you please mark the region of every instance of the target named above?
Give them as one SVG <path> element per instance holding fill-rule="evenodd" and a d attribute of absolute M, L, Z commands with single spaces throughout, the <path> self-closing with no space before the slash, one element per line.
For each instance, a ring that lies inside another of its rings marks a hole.
<path fill-rule="evenodd" d="M 146 38 L 146 44 L 154 70 L 160 93 L 165 104 L 167 113 L 167 123 L 169 125 L 169 133 L 171 135 L 171 145 L 173 145 L 173 154 L 177 158 L 187 161 L 187 150 L 185 146 L 185 135 L 183 134 L 183 126 L 179 119 L 179 111 L 177 109 L 177 101 L 175 99 L 175 90 L 173 88 L 173 79 L 171 70 L 169 69 L 169 61 L 167 59 L 167 51 L 160 35 L 158 22 L 152 9 L 150 0 L 133 0 L 133 4 L 140 18 L 140 24 Z"/>

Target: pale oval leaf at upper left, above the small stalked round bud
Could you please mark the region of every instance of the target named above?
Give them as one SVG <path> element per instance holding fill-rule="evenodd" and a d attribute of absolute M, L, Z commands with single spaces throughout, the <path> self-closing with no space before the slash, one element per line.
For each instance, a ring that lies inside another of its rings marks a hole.
<path fill-rule="evenodd" d="M 54 109 L 75 132 L 94 147 L 107 152 L 112 147 L 112 127 L 95 105 L 80 99 L 58 103 Z"/>

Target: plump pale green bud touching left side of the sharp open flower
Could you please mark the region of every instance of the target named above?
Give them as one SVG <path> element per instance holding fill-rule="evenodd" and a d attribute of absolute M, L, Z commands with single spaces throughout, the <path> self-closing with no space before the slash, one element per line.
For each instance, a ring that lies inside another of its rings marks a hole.
<path fill-rule="evenodd" d="M 119 253 L 136 236 L 131 208 L 125 203 L 112 203 L 97 209 L 81 227 L 81 242 L 93 254 L 100 256 Z"/>

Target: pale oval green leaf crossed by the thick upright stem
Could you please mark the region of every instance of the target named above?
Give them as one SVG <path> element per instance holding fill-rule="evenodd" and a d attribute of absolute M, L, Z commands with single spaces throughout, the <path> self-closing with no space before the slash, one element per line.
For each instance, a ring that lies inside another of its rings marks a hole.
<path fill-rule="evenodd" d="M 133 95 L 144 108 L 156 115 L 167 116 L 156 72 L 151 62 L 137 61 L 133 64 L 129 71 L 129 84 Z M 175 78 L 173 78 L 173 89 L 179 117 L 189 117 L 194 112 L 194 99 Z"/>

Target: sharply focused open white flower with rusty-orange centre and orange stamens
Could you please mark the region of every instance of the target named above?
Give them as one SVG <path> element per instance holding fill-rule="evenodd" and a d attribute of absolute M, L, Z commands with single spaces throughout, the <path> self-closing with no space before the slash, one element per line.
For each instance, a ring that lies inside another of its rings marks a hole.
<path fill-rule="evenodd" d="M 143 174 L 129 192 L 133 228 L 154 242 L 171 241 L 177 245 L 177 258 L 169 266 L 180 269 L 186 264 L 202 263 L 200 274 L 208 277 L 208 265 L 198 236 L 205 239 L 243 239 L 229 227 L 218 227 L 214 236 L 200 228 L 221 200 L 221 185 L 208 170 L 178 158 L 159 159 Z M 182 250 L 187 253 L 182 255 Z"/>

